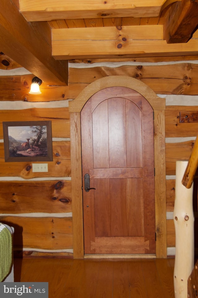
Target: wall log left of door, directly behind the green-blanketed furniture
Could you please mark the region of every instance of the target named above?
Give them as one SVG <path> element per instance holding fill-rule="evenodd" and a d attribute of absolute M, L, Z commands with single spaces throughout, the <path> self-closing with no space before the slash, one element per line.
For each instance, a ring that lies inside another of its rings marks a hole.
<path fill-rule="evenodd" d="M 71 249 L 73 248 L 72 219 L 70 217 L 1 216 L 1 222 L 13 226 L 15 249 Z"/>

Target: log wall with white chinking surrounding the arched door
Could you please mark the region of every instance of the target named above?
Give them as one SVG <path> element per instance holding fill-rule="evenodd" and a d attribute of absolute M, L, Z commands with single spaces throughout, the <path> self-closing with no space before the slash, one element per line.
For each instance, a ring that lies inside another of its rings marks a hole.
<path fill-rule="evenodd" d="M 14 70 L 12 74 L 10 70 L 0 70 L 0 221 L 15 227 L 15 254 L 23 251 L 23 255 L 34 256 L 73 255 L 68 101 L 99 78 L 127 75 L 166 97 L 167 255 L 174 255 L 175 162 L 189 158 L 198 131 L 198 61 L 179 58 L 70 61 L 68 86 L 49 87 L 42 83 L 42 94 L 38 96 L 28 94 L 34 75 L 26 74 L 22 68 L 16 74 Z M 51 120 L 53 161 L 48 162 L 48 172 L 32 172 L 32 162 L 4 160 L 2 122 L 28 120 Z M 197 232 L 195 237 L 198 239 Z"/>

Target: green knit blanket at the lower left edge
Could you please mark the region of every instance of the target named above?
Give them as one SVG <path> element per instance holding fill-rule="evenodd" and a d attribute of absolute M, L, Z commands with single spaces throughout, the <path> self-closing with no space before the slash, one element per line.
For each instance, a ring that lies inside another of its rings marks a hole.
<path fill-rule="evenodd" d="M 0 223 L 0 282 L 8 275 L 12 264 L 12 236 L 8 228 Z"/>

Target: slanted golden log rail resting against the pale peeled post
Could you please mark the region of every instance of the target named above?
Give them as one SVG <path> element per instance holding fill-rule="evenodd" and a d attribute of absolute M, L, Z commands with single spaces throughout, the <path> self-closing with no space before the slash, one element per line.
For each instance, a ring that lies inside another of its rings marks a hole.
<path fill-rule="evenodd" d="M 196 141 L 192 148 L 191 156 L 188 160 L 188 164 L 182 178 L 182 184 L 186 188 L 191 188 L 197 167 L 198 167 L 198 136 L 196 137 Z"/>

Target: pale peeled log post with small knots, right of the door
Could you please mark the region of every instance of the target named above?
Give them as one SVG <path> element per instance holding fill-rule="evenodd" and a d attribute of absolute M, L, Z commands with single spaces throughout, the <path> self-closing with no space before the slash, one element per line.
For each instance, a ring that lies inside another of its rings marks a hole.
<path fill-rule="evenodd" d="M 194 214 L 193 185 L 186 188 L 182 184 L 187 161 L 176 161 L 174 226 L 175 226 L 175 298 L 187 298 L 187 280 L 194 266 Z"/>

